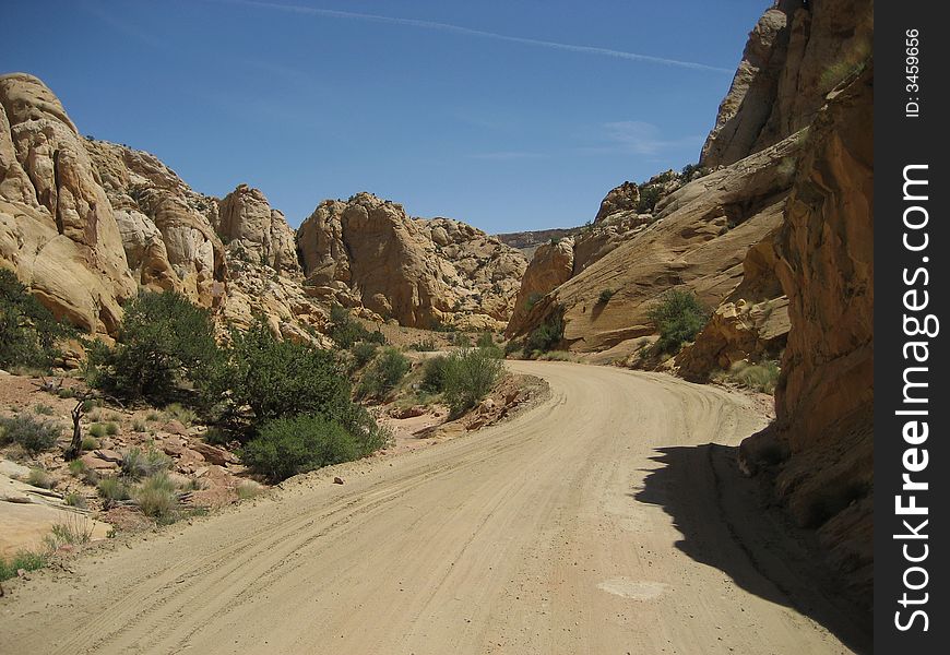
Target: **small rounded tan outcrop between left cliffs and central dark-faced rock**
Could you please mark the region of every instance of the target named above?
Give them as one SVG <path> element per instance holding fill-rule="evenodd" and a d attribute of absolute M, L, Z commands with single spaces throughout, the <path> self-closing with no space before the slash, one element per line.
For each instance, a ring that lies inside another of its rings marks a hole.
<path fill-rule="evenodd" d="M 261 263 L 289 275 L 302 272 L 294 230 L 258 190 L 239 184 L 218 206 L 217 234 L 228 250 L 239 247 Z"/>

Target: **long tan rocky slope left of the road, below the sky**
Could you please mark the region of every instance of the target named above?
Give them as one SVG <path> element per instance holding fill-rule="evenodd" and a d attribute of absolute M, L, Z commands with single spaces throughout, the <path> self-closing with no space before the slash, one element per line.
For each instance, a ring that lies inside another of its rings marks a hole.
<path fill-rule="evenodd" d="M 149 153 L 81 136 L 41 81 L 13 73 L 0 76 L 0 265 L 93 334 L 115 336 L 122 305 L 150 288 L 222 325 L 262 314 L 277 334 L 321 341 L 333 302 L 500 330 L 526 262 L 464 223 L 369 194 L 322 203 L 297 234 L 258 189 L 204 195 Z"/>

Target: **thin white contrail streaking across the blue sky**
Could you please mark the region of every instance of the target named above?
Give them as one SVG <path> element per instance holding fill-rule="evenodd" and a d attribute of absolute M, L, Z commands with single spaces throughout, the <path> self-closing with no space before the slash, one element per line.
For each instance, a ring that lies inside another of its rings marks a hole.
<path fill-rule="evenodd" d="M 314 16 L 325 16 L 330 19 L 344 19 L 348 21 L 369 21 L 373 23 L 389 23 L 391 25 L 404 25 L 406 27 L 417 27 L 419 29 L 434 29 L 439 32 L 454 32 L 456 34 L 465 34 L 467 36 L 477 36 L 482 38 L 491 38 L 495 40 L 503 40 L 513 44 L 523 44 L 526 46 L 539 46 L 543 48 L 551 48 L 555 50 L 567 50 L 569 52 L 582 52 L 585 55 L 602 55 L 605 57 L 614 57 L 616 59 L 627 59 L 630 61 L 644 61 L 648 63 L 660 63 L 663 66 L 676 66 L 680 68 L 712 71 L 716 73 L 732 74 L 734 71 L 717 66 L 709 66 L 698 63 L 696 61 L 680 61 L 678 59 L 667 59 L 665 57 L 653 57 L 651 55 L 638 55 L 637 52 L 625 52 L 622 50 L 611 50 L 609 48 L 597 48 L 594 46 L 575 46 L 571 44 L 561 44 L 557 41 L 541 40 L 536 38 L 525 38 L 522 36 L 509 36 L 507 34 L 498 34 L 496 32 L 485 32 L 484 29 L 472 29 L 450 23 L 437 23 L 434 21 L 419 21 L 417 19 L 399 19 L 394 16 L 380 16 L 376 14 L 356 13 L 352 11 L 340 11 L 335 9 L 318 9 L 314 7 L 305 7 L 301 4 L 280 4 L 276 2 L 260 2 L 257 0 L 217 0 L 226 4 L 240 4 L 244 7 L 254 7 L 258 9 L 270 9 L 284 11 L 288 13 L 309 14 Z"/>

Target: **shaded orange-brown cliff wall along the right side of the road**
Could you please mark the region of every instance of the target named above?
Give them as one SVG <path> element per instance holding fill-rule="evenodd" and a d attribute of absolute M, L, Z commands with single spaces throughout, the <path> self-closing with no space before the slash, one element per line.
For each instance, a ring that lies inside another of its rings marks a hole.
<path fill-rule="evenodd" d="M 776 239 L 792 331 L 775 394 L 777 489 L 855 584 L 871 585 L 874 71 L 829 96 Z M 755 466 L 762 437 L 744 443 Z M 768 439 L 765 437 L 764 439 Z"/>

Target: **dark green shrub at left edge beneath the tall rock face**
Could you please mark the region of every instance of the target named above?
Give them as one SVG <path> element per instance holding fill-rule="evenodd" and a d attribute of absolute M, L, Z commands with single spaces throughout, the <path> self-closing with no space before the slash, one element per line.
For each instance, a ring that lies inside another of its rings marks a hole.
<path fill-rule="evenodd" d="M 0 269 L 0 368 L 48 368 L 60 356 L 57 341 L 75 335 L 34 298 L 12 271 Z"/>

